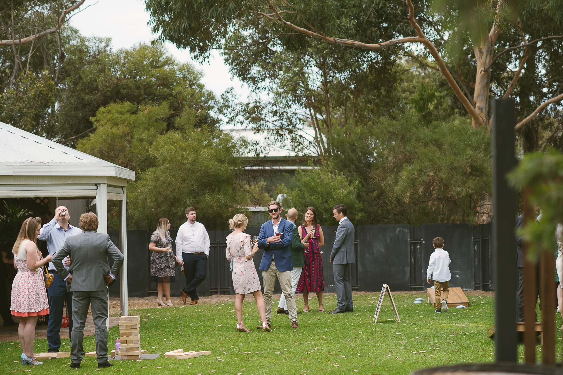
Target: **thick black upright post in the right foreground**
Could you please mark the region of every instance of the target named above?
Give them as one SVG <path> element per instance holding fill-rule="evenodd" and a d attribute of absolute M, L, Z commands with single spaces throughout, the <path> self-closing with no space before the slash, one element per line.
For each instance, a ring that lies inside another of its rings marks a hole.
<path fill-rule="evenodd" d="M 516 165 L 514 101 L 493 100 L 493 261 L 497 362 L 517 362 L 516 193 L 506 175 Z"/>

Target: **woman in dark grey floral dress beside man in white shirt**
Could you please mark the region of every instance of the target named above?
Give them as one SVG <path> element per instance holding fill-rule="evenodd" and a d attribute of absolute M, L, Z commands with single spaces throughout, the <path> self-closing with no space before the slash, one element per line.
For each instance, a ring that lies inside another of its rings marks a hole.
<path fill-rule="evenodd" d="M 157 306 L 174 306 L 170 300 L 170 283 L 175 281 L 176 256 L 172 252 L 172 237 L 168 219 L 158 220 L 157 230 L 150 236 L 150 281 L 158 283 Z M 166 296 L 166 304 L 162 295 Z"/>

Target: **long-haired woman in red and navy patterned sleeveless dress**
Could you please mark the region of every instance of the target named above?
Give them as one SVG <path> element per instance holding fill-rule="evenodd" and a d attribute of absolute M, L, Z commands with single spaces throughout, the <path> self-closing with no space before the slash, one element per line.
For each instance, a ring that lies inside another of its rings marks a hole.
<path fill-rule="evenodd" d="M 305 302 L 303 311 L 309 311 L 309 292 L 316 293 L 319 300 L 319 311 L 324 311 L 323 259 L 319 250 L 319 247 L 324 245 L 324 234 L 323 229 L 316 222 L 314 207 L 307 207 L 305 221 L 297 229 L 301 239 L 305 238 L 309 232 L 314 234 L 309 238 L 309 249 L 305 248 L 305 266 L 303 266 L 301 277 L 297 283 L 296 293 L 303 293 L 303 302 Z"/>

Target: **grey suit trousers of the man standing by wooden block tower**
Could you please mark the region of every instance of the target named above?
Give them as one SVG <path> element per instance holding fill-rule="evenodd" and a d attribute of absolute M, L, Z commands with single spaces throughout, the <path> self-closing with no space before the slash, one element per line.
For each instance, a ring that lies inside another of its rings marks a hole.
<path fill-rule="evenodd" d="M 108 291 L 96 290 L 73 292 L 72 317 L 74 326 L 72 336 L 70 336 L 70 360 L 73 363 L 82 361 L 84 326 L 90 305 L 92 305 L 98 363 L 108 360 L 108 328 L 105 325 L 106 319 L 108 319 Z"/>

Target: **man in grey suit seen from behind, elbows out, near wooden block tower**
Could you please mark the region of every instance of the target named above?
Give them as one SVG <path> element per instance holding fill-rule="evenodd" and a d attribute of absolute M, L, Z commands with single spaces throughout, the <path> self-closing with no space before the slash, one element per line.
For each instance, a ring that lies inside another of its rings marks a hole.
<path fill-rule="evenodd" d="M 108 234 L 96 232 L 96 214 L 82 214 L 80 226 L 84 232 L 67 237 L 64 245 L 53 257 L 53 265 L 61 278 L 68 283 L 67 287 L 70 284 L 70 291 L 73 292 L 74 326 L 70 340 L 70 367 L 79 368 L 82 362 L 84 325 L 90 306 L 96 329 L 98 367 L 110 367 L 113 363 L 108 362 L 108 329 L 105 324 L 108 319 L 108 285 L 115 280 L 121 269 L 123 255 L 111 242 Z M 115 260 L 111 270 L 108 255 Z M 62 265 L 66 256 L 72 259 L 68 271 Z"/>

